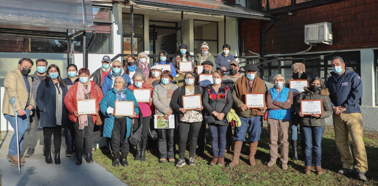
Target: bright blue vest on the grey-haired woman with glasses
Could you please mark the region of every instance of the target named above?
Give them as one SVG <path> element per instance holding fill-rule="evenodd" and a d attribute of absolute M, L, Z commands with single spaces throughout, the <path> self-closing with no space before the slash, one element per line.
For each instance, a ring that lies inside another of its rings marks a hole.
<path fill-rule="evenodd" d="M 276 86 L 269 90 L 270 94 L 272 95 L 272 101 L 276 99 L 277 95 L 279 94 L 275 87 Z M 276 101 L 286 102 L 289 91 L 290 89 L 284 86 L 281 90 L 280 96 L 276 99 Z M 268 118 L 276 120 L 291 120 L 291 109 L 269 110 Z"/>

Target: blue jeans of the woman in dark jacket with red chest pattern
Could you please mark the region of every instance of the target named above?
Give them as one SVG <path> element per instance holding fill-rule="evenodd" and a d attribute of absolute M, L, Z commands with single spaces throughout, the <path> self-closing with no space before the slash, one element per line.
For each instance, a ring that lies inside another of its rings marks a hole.
<path fill-rule="evenodd" d="M 225 157 L 226 132 L 228 125 L 208 123 L 211 134 L 211 148 L 214 157 Z"/>

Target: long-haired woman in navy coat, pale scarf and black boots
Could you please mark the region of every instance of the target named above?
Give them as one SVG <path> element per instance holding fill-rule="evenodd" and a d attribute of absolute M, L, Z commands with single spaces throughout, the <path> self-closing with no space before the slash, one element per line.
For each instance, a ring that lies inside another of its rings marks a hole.
<path fill-rule="evenodd" d="M 54 135 L 55 164 L 60 164 L 60 143 L 62 125 L 67 124 L 67 110 L 65 97 L 67 85 L 60 77 L 58 66 L 52 64 L 47 67 L 46 77 L 38 86 L 36 103 L 40 110 L 40 126 L 43 128 L 43 145 L 45 146 L 45 162 L 53 164 L 51 158 L 51 136 Z M 91 149 L 92 150 L 92 149 Z"/>

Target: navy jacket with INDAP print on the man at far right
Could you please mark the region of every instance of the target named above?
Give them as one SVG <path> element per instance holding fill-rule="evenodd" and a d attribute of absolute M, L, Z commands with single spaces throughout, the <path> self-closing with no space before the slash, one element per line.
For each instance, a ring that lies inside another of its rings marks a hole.
<path fill-rule="evenodd" d="M 342 113 L 361 112 L 359 99 L 362 97 L 362 81 L 356 72 L 345 69 L 344 74 L 336 75 L 331 72 L 327 80 L 327 88 L 330 91 L 331 106 L 345 106 Z"/>

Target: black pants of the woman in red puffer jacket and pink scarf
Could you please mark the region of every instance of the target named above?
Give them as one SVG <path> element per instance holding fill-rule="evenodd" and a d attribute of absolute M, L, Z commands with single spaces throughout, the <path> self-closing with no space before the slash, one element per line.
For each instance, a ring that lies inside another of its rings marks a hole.
<path fill-rule="evenodd" d="M 84 148 L 85 140 L 85 152 L 92 153 L 93 149 L 93 118 L 92 115 L 88 115 L 88 126 L 84 129 L 79 130 L 79 118 L 77 118 L 76 123 L 73 124 L 75 130 L 75 148 L 76 152 L 82 152 Z"/>

